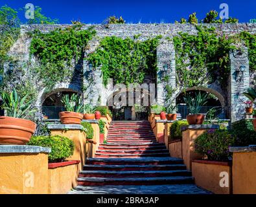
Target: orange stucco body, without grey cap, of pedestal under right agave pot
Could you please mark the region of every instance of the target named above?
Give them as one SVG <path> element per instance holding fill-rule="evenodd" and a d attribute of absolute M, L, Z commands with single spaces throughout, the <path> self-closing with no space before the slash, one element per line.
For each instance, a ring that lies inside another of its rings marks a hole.
<path fill-rule="evenodd" d="M 204 133 L 205 129 L 187 129 L 182 132 L 182 158 L 188 170 L 191 170 L 191 160 L 202 158 L 194 152 L 194 140 Z"/>

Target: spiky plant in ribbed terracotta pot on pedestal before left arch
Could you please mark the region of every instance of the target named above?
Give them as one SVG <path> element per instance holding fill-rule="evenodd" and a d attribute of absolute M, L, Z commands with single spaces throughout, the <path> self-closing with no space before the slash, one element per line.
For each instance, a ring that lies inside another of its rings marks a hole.
<path fill-rule="evenodd" d="M 78 94 L 72 94 L 71 98 L 69 98 L 69 94 L 65 94 L 62 103 L 66 111 L 60 112 L 60 122 L 62 124 L 81 124 L 84 115 Z"/>

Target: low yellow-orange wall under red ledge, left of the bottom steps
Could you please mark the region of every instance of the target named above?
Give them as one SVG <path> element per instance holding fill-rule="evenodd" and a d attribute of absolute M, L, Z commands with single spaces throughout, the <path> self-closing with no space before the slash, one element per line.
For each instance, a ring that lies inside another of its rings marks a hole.
<path fill-rule="evenodd" d="M 79 164 L 48 170 L 48 193 L 64 194 L 77 186 Z"/>

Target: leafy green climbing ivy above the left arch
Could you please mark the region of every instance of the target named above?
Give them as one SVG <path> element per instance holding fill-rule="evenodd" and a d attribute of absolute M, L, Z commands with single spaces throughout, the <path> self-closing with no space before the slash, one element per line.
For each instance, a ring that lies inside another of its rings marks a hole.
<path fill-rule="evenodd" d="M 45 87 L 51 89 L 56 82 L 62 82 L 71 77 L 70 67 L 84 57 L 88 41 L 95 35 L 95 30 L 89 28 L 80 30 L 81 25 L 67 28 L 56 28 L 49 33 L 34 30 L 30 45 L 30 55 L 40 60 L 38 70 Z"/>

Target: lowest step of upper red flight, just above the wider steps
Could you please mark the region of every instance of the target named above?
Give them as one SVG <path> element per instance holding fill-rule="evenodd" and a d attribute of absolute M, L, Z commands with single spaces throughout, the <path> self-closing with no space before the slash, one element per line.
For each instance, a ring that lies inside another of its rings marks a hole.
<path fill-rule="evenodd" d="M 105 158 L 133 158 L 133 157 L 169 157 L 169 153 L 146 153 L 146 154 L 105 154 L 95 153 L 95 157 Z"/>

